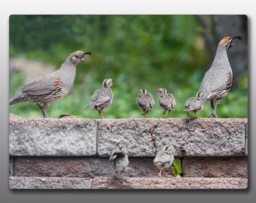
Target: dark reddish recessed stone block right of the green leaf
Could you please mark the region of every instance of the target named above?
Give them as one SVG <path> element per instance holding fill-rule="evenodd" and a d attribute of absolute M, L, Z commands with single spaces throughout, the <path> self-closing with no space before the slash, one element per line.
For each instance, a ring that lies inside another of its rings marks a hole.
<path fill-rule="evenodd" d="M 248 177 L 245 157 L 191 157 L 182 160 L 184 177 Z"/>

